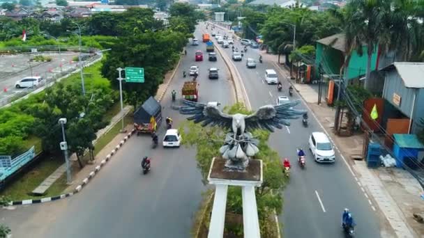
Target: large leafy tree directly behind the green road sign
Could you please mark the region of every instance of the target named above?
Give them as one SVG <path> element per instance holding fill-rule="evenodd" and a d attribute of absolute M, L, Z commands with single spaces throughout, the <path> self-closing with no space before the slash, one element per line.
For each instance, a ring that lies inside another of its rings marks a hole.
<path fill-rule="evenodd" d="M 123 37 L 110 51 L 102 66 L 102 74 L 109 79 L 114 88 L 119 88 L 116 68 L 143 67 L 144 84 L 126 83 L 123 90 L 131 104 L 137 108 L 151 95 L 155 95 L 163 76 L 178 61 L 187 40 L 183 33 L 167 31 L 148 31 L 136 36 Z"/>

